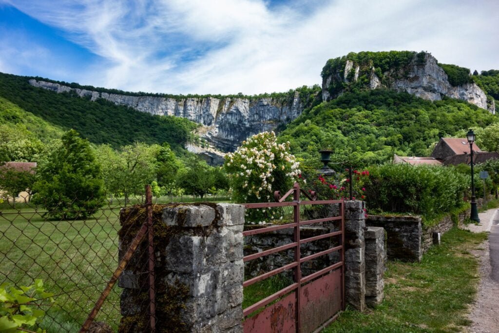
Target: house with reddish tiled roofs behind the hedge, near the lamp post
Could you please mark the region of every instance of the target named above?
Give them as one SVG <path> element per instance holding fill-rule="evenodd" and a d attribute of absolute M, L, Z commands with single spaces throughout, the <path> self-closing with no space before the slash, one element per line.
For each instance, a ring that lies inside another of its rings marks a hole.
<path fill-rule="evenodd" d="M 474 164 L 483 163 L 493 158 L 499 159 L 499 153 L 482 151 L 475 142 L 473 143 Z M 433 149 L 431 157 L 406 157 L 395 155 L 393 158 L 393 163 L 408 163 L 413 165 L 458 165 L 461 163 L 470 164 L 470 143 L 466 138 L 441 138 Z"/>

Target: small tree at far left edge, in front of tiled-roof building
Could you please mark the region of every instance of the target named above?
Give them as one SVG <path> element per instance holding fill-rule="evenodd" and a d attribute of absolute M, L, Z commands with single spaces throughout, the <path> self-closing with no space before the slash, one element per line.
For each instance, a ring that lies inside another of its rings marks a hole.
<path fill-rule="evenodd" d="M 34 174 L 29 171 L 17 171 L 13 168 L 0 167 L 0 189 L 4 195 L 12 198 L 12 206 L 15 208 L 15 197 L 19 192 L 27 191 L 31 195 L 31 188 L 34 183 Z M 28 197 L 29 201 L 29 197 Z"/>

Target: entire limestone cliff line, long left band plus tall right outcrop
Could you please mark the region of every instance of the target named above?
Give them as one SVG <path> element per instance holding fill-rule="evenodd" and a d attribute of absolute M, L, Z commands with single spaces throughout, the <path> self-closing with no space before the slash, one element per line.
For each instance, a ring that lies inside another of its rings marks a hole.
<path fill-rule="evenodd" d="M 466 78 L 466 69 L 461 69 L 465 70 Z M 443 96 L 458 98 L 495 113 L 494 100 L 490 98 L 488 103 L 485 92 L 472 79 L 469 81 L 471 83 L 452 85 L 442 66 L 426 52 L 352 52 L 326 62 L 322 70 L 322 100 L 330 100 L 345 91 L 389 88 L 432 101 Z M 35 79 L 29 83 L 58 93 L 76 93 L 92 101 L 102 98 L 155 115 L 187 118 L 203 125 L 197 134 L 222 151 L 233 151 L 249 136 L 290 122 L 310 107 L 314 99 L 317 102 L 321 97 L 315 98 L 317 90 L 314 89 L 303 98 L 298 90 L 278 98 L 136 96 Z M 219 158 L 213 152 L 203 154 L 207 159 Z"/>

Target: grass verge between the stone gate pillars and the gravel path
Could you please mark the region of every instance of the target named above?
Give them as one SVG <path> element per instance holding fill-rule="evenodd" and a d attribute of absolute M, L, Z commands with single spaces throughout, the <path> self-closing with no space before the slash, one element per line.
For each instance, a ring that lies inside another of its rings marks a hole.
<path fill-rule="evenodd" d="M 366 313 L 347 309 L 323 332 L 463 331 L 479 283 L 471 250 L 487 237 L 453 228 L 421 263 L 389 262 L 383 303 Z"/>

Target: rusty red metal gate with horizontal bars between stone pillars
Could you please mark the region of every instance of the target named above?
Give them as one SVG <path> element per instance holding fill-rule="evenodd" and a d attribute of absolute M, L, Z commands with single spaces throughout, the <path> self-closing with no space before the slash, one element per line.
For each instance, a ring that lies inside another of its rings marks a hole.
<path fill-rule="evenodd" d="M 293 201 L 284 201 L 293 194 Z M 300 194 L 309 200 L 300 201 Z M 278 292 L 264 298 L 263 300 L 243 310 L 245 315 L 244 331 L 252 332 L 318 332 L 323 327 L 333 322 L 338 313 L 344 310 L 344 202 L 343 200 L 316 200 L 315 194 L 310 195 L 300 189 L 295 183 L 282 198 L 276 192 L 274 203 L 246 204 L 247 209 L 293 207 L 293 223 L 275 225 L 266 228 L 248 230 L 244 236 L 252 236 L 261 233 L 273 232 L 285 228 L 293 228 L 293 241 L 290 244 L 267 249 L 244 257 L 249 262 L 257 258 L 268 256 L 277 252 L 294 249 L 294 260 L 292 263 L 273 269 L 269 272 L 251 278 L 244 282 L 243 287 L 263 281 L 287 270 L 293 270 L 293 283 Z M 339 205 L 338 216 L 315 218 L 300 221 L 300 206 L 303 205 Z M 335 221 L 338 223 L 337 230 L 319 236 L 300 239 L 300 227 L 321 222 Z M 339 244 L 332 244 L 328 249 L 301 257 L 300 245 L 317 240 L 331 239 L 337 236 Z M 330 264 L 307 276 L 302 276 L 301 264 L 321 256 L 339 252 L 339 261 Z M 256 312 L 256 314 L 255 314 Z"/>

